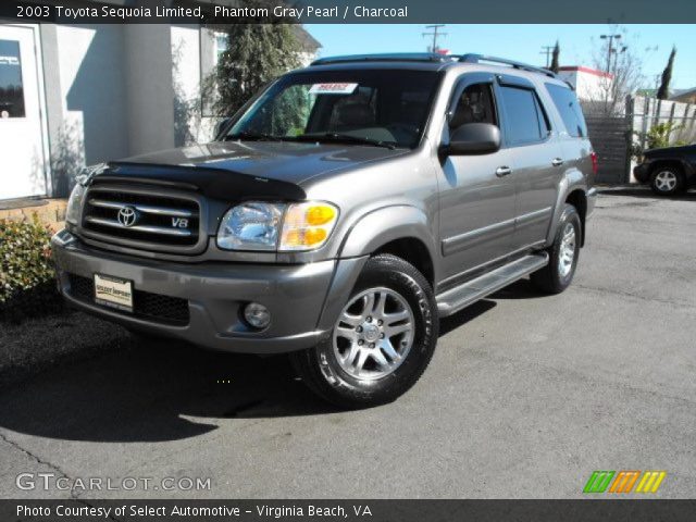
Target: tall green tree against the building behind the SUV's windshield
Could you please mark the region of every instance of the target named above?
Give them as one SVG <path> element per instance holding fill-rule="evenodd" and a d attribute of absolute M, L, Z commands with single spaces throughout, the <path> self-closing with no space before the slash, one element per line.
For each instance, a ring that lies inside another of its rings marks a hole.
<path fill-rule="evenodd" d="M 233 115 L 270 80 L 301 65 L 302 47 L 290 24 L 231 24 L 225 33 L 229 46 L 204 87 L 217 116 Z"/>

